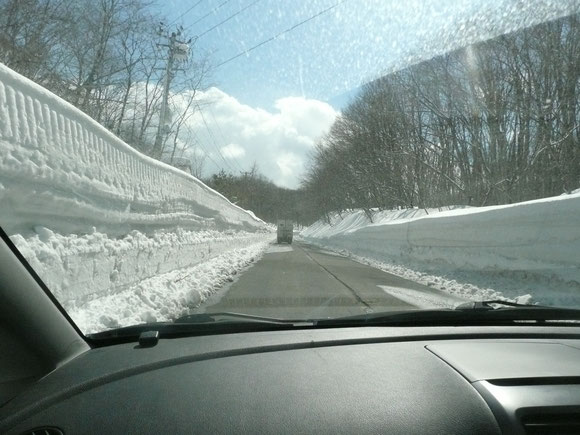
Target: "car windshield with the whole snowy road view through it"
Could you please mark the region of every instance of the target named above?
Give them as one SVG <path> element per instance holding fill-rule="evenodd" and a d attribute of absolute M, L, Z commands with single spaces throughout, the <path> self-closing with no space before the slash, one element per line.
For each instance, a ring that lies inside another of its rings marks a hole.
<path fill-rule="evenodd" d="M 580 307 L 579 13 L 0 1 L 0 227 L 85 334 Z"/>

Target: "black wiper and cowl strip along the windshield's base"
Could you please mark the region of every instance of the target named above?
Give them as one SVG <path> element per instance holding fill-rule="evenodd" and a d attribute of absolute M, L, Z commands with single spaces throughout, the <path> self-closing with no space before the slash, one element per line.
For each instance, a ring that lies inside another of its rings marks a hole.
<path fill-rule="evenodd" d="M 494 307 L 499 306 L 499 307 Z M 220 320 L 221 319 L 221 320 Z M 227 319 L 234 319 L 233 321 Z M 96 345 L 107 341 L 136 341 L 146 331 L 161 338 L 283 329 L 360 326 L 491 326 L 522 323 L 578 326 L 580 309 L 525 305 L 501 300 L 470 302 L 456 308 L 366 313 L 327 319 L 287 320 L 250 314 L 221 312 L 190 314 L 174 322 L 144 323 L 88 334 Z"/>

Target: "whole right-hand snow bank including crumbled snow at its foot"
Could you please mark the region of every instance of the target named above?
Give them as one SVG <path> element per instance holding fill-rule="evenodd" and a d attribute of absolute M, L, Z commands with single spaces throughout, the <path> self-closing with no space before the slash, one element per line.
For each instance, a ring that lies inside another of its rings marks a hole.
<path fill-rule="evenodd" d="M 580 191 L 518 204 L 377 212 L 301 236 L 456 295 L 580 304 Z"/>

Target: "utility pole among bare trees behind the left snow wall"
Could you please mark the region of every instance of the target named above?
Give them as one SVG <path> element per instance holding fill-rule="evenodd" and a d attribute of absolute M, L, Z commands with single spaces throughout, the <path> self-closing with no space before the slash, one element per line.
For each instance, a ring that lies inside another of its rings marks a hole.
<path fill-rule="evenodd" d="M 160 23 L 159 30 L 157 31 L 160 36 L 163 35 L 163 23 Z M 155 135 L 155 142 L 153 144 L 153 149 L 151 150 L 151 157 L 154 159 L 161 159 L 161 154 L 163 152 L 162 145 L 167 134 L 168 124 L 169 124 L 169 89 L 171 87 L 171 80 L 173 79 L 173 66 L 175 61 L 185 61 L 189 55 L 189 44 L 191 39 L 187 42 L 181 42 L 177 40 L 178 36 L 181 36 L 181 31 L 183 28 L 180 26 L 177 33 L 172 32 L 170 36 L 165 36 L 168 39 L 167 44 L 158 44 L 161 47 L 167 47 L 168 58 L 167 64 L 165 65 L 165 77 L 163 78 L 163 96 L 161 98 L 161 109 L 159 111 L 159 124 L 157 125 L 157 134 Z"/>

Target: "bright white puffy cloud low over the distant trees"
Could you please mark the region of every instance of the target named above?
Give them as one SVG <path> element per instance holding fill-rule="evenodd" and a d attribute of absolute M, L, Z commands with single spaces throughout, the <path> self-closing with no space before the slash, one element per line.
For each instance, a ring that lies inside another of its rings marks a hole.
<path fill-rule="evenodd" d="M 218 88 L 198 92 L 197 98 L 203 119 L 195 114 L 187 122 L 209 154 L 206 175 L 218 166 L 248 170 L 255 162 L 266 177 L 290 188 L 298 187 L 308 152 L 337 115 L 329 104 L 303 97 L 279 99 L 272 112 L 242 104 Z"/>

